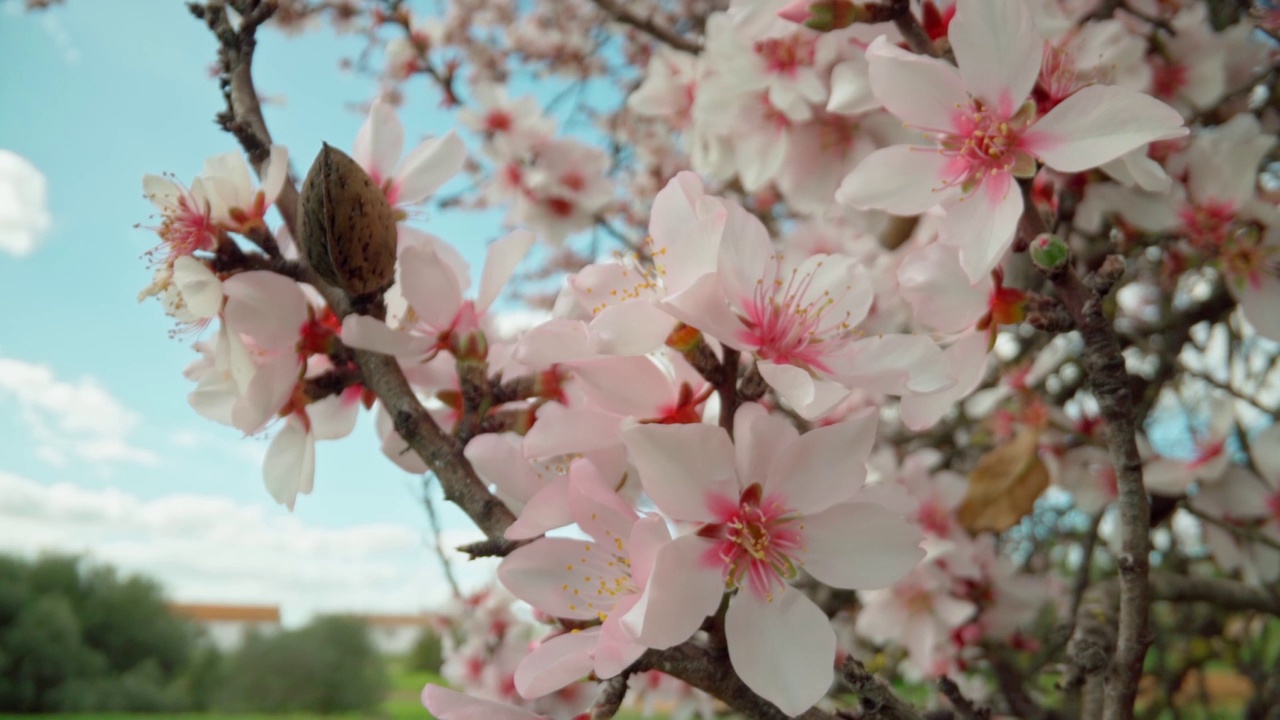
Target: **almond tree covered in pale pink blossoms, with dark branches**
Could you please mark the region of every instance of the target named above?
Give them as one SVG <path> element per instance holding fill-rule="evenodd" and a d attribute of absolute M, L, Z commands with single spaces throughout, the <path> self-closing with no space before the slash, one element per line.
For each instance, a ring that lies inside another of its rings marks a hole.
<path fill-rule="evenodd" d="M 438 5 L 191 3 L 243 154 L 142 181 L 268 492 L 371 413 L 502 557 L 430 712 L 1280 712 L 1274 8 Z M 253 51 L 326 24 L 378 91 L 287 151 Z M 516 78 L 608 90 L 571 132 Z M 506 211 L 474 291 L 424 208 Z"/>

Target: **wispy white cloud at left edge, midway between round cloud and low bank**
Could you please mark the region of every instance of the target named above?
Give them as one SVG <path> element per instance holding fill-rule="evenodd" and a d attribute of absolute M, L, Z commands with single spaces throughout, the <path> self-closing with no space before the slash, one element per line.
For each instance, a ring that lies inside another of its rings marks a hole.
<path fill-rule="evenodd" d="M 129 442 L 137 414 L 91 377 L 67 382 L 47 365 L 0 356 L 0 397 L 17 400 L 36 441 L 36 456 L 55 466 L 73 457 L 97 464 L 160 462 L 155 452 Z"/>

